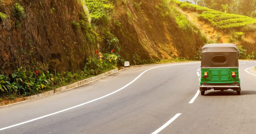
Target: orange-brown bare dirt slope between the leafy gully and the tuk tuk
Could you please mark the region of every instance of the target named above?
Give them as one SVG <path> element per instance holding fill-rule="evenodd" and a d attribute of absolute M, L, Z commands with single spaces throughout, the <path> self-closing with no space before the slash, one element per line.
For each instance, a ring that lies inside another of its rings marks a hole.
<path fill-rule="evenodd" d="M 134 3 L 140 2 L 139 7 L 134 6 Z M 161 7 L 162 3 L 159 0 L 127 0 L 127 4 L 116 6 L 114 19 L 120 20 L 122 25 L 113 24 L 112 29 L 120 40 L 122 56 L 138 54 L 142 58 L 155 59 L 193 58 L 194 52 L 205 43 L 196 28 L 182 30 L 176 22 L 177 16 L 170 14 L 163 17 L 161 10 L 165 12 L 168 9 Z"/>

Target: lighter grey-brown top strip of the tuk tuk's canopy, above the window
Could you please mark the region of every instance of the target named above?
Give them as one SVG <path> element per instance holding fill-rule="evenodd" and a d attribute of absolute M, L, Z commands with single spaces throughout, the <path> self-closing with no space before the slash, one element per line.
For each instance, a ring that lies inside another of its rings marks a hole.
<path fill-rule="evenodd" d="M 206 44 L 202 47 L 202 53 L 206 52 L 237 52 L 235 44 Z"/>

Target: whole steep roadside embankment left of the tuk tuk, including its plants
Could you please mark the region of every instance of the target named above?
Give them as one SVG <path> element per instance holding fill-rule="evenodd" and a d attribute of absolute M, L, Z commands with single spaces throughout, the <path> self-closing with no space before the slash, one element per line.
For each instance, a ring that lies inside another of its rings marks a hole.
<path fill-rule="evenodd" d="M 0 101 L 83 80 L 124 61 L 199 59 L 208 42 L 169 0 L 6 0 L 0 1 L 0 24 Z"/>

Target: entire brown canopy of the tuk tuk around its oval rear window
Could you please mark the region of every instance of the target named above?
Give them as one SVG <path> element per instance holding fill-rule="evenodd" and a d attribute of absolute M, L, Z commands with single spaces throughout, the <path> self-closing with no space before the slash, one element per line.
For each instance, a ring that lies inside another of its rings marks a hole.
<path fill-rule="evenodd" d="M 239 67 L 238 64 L 239 51 L 235 44 L 207 44 L 202 47 L 201 67 L 202 68 L 218 68 L 218 67 Z M 225 63 L 214 63 L 215 56 L 222 56 L 221 59 L 226 60 Z"/>

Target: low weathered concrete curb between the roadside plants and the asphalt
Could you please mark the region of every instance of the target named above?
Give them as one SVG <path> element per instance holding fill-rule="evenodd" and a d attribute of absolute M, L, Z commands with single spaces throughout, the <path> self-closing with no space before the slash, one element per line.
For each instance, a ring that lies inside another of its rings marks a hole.
<path fill-rule="evenodd" d="M 124 69 L 127 69 L 127 68 L 124 68 Z M 121 69 L 119 71 L 122 71 L 124 69 Z M 37 98 L 42 98 L 44 96 L 48 96 L 48 95 L 51 95 L 51 94 L 67 91 L 67 90 L 70 90 L 70 89 L 73 89 L 73 88 L 77 88 L 77 87 L 83 86 L 85 84 L 89 84 L 91 82 L 94 82 L 96 80 L 102 79 L 106 76 L 112 75 L 112 74 L 114 74 L 116 72 L 119 72 L 119 71 L 118 71 L 118 69 L 113 69 L 111 71 L 104 72 L 100 75 L 93 76 L 91 78 L 84 79 L 84 80 L 72 83 L 70 85 L 57 88 L 55 90 L 46 91 L 46 92 L 43 92 L 43 93 L 27 96 L 27 97 L 24 97 L 24 98 L 18 98 L 18 99 L 12 100 L 12 101 L 2 102 L 2 103 L 0 103 L 0 108 L 4 107 L 4 106 L 8 106 L 8 105 L 13 105 L 13 104 L 21 103 L 21 102 L 26 102 L 26 101 L 29 101 L 29 100 L 34 100 L 34 99 L 37 99 Z"/>

